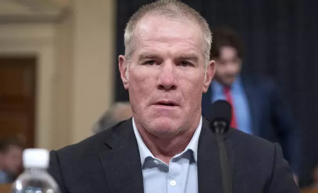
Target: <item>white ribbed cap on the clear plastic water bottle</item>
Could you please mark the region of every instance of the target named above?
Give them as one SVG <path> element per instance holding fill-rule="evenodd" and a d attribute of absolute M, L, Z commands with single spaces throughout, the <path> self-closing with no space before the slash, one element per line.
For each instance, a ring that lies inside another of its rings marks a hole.
<path fill-rule="evenodd" d="M 47 168 L 50 160 L 46 149 L 25 149 L 23 151 L 24 168 Z"/>

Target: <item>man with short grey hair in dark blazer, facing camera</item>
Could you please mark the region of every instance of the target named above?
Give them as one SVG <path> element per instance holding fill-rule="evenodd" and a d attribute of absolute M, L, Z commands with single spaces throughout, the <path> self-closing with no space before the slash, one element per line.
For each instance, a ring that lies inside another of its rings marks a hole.
<path fill-rule="evenodd" d="M 186 4 L 141 7 L 119 56 L 133 117 L 79 144 L 51 152 L 50 173 L 63 193 L 222 193 L 216 137 L 201 117 L 214 74 L 211 32 Z M 297 193 L 278 145 L 230 129 L 236 193 Z"/>

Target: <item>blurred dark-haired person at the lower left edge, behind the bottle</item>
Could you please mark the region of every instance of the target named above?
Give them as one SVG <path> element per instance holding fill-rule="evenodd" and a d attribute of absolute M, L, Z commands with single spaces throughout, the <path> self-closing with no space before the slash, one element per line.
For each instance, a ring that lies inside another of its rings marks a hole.
<path fill-rule="evenodd" d="M 22 151 L 17 141 L 0 140 L 0 184 L 12 183 L 21 172 Z"/>

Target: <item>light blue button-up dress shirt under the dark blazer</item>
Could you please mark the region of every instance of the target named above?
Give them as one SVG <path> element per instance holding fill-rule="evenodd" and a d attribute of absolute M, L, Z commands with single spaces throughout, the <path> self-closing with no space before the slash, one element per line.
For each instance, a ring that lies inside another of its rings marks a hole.
<path fill-rule="evenodd" d="M 186 149 L 175 155 L 169 165 L 155 158 L 142 140 L 134 119 L 132 125 L 137 139 L 144 193 L 198 193 L 198 142 L 202 117 Z"/>

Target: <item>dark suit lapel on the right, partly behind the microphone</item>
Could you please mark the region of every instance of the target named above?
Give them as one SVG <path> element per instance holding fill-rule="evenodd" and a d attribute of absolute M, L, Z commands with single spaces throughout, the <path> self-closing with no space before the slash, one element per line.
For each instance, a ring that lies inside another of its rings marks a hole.
<path fill-rule="evenodd" d="M 204 120 L 198 146 L 199 193 L 223 193 L 219 148 L 215 134 L 208 127 L 208 122 Z M 232 176 L 231 184 L 233 185 L 235 164 L 234 148 L 228 138 L 224 140 Z"/>

